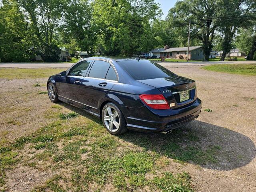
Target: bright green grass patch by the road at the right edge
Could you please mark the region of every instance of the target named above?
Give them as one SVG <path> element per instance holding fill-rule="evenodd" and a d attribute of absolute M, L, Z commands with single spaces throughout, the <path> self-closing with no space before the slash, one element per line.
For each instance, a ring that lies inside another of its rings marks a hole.
<path fill-rule="evenodd" d="M 239 75 L 256 75 L 256 64 L 217 64 L 202 67 L 205 70 Z"/>

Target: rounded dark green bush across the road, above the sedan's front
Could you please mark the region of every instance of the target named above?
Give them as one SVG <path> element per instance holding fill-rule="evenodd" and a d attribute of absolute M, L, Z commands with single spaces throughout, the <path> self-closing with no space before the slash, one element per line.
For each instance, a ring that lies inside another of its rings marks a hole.
<path fill-rule="evenodd" d="M 39 54 L 44 62 L 58 62 L 60 59 L 60 48 L 55 44 L 43 44 Z"/>

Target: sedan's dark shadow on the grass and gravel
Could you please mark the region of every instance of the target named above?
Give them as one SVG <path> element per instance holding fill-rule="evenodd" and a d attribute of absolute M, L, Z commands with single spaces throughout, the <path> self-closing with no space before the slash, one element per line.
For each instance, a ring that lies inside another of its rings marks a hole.
<path fill-rule="evenodd" d="M 63 102 L 59 104 L 102 123 L 84 110 Z M 118 138 L 180 163 L 188 162 L 216 170 L 232 170 L 245 166 L 256 155 L 255 145 L 247 136 L 199 120 L 194 120 L 168 135 L 128 131 Z"/>

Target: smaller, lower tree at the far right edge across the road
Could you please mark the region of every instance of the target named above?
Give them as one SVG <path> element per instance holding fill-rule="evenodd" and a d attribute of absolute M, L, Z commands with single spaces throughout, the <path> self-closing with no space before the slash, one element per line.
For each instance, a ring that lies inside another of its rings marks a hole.
<path fill-rule="evenodd" d="M 238 30 L 236 46 L 247 54 L 247 60 L 252 60 L 256 55 L 256 24 L 250 28 Z"/>

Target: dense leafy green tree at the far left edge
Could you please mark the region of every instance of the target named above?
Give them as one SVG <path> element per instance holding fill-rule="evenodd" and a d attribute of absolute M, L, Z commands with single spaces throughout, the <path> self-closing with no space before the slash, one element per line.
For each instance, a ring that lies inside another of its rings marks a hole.
<path fill-rule="evenodd" d="M 37 38 L 14 0 L 3 0 L 0 7 L 0 62 L 25 62 Z"/>

